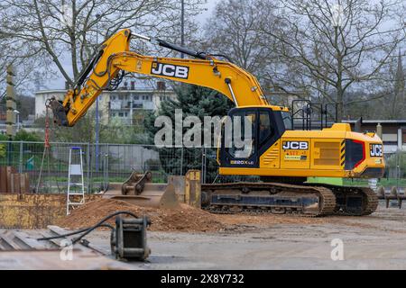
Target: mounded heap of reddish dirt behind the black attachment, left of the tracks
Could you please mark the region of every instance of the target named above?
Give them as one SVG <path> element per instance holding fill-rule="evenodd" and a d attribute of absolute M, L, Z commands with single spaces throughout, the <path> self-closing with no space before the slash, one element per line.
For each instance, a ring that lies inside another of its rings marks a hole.
<path fill-rule="evenodd" d="M 226 229 L 226 224 L 218 220 L 217 215 L 210 214 L 186 204 L 180 209 L 167 210 L 140 207 L 112 199 L 88 202 L 71 211 L 70 215 L 59 220 L 56 225 L 69 229 L 79 229 L 96 224 L 103 217 L 115 211 L 131 211 L 137 216 L 147 215 L 152 220 L 151 230 L 155 231 L 219 231 Z M 115 219 L 109 220 L 114 223 Z"/>

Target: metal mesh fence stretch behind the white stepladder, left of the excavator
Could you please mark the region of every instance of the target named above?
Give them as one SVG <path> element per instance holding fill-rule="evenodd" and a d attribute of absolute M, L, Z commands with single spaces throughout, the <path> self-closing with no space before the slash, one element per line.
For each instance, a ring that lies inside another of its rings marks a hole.
<path fill-rule="evenodd" d="M 109 183 L 124 182 L 133 171 L 152 171 L 154 182 L 164 183 L 169 175 L 184 175 L 202 169 L 202 148 L 156 148 L 154 145 L 51 142 L 44 156 L 42 142 L 0 141 L 6 155 L 0 166 L 14 166 L 30 175 L 30 187 L 38 192 L 65 193 L 68 184 L 69 148 L 83 150 L 83 171 L 88 192 L 106 190 Z M 96 154 L 98 150 L 98 154 Z M 41 169 L 42 167 L 42 169 Z"/>

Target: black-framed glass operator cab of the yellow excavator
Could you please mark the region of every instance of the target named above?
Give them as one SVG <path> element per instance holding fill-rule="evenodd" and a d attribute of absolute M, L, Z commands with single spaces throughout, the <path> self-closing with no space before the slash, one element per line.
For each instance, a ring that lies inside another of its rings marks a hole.
<path fill-rule="evenodd" d="M 260 156 L 285 130 L 291 130 L 291 113 L 278 108 L 243 107 L 228 112 L 221 128 L 221 166 L 259 167 Z"/>

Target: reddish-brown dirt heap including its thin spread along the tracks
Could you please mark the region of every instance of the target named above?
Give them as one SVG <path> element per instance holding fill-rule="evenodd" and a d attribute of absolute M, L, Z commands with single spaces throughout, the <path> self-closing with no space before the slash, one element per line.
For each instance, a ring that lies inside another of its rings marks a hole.
<path fill-rule="evenodd" d="M 153 231 L 205 232 L 224 230 L 245 230 L 270 227 L 279 224 L 318 225 L 337 222 L 337 217 L 308 218 L 290 215 L 245 215 L 245 214 L 211 214 L 180 204 L 180 209 L 167 210 L 140 207 L 113 199 L 100 199 L 88 202 L 69 216 L 59 220 L 56 225 L 69 229 L 92 226 L 115 211 L 131 211 L 138 216 L 147 215 L 152 220 Z M 114 219 L 110 223 L 114 223 Z"/>

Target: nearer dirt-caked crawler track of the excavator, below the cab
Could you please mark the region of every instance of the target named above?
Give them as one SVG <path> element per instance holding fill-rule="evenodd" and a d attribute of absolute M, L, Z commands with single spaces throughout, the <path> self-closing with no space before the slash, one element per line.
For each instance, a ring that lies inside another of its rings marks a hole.
<path fill-rule="evenodd" d="M 202 208 L 214 213 L 332 214 L 336 196 L 326 187 L 281 183 L 203 184 Z"/>

